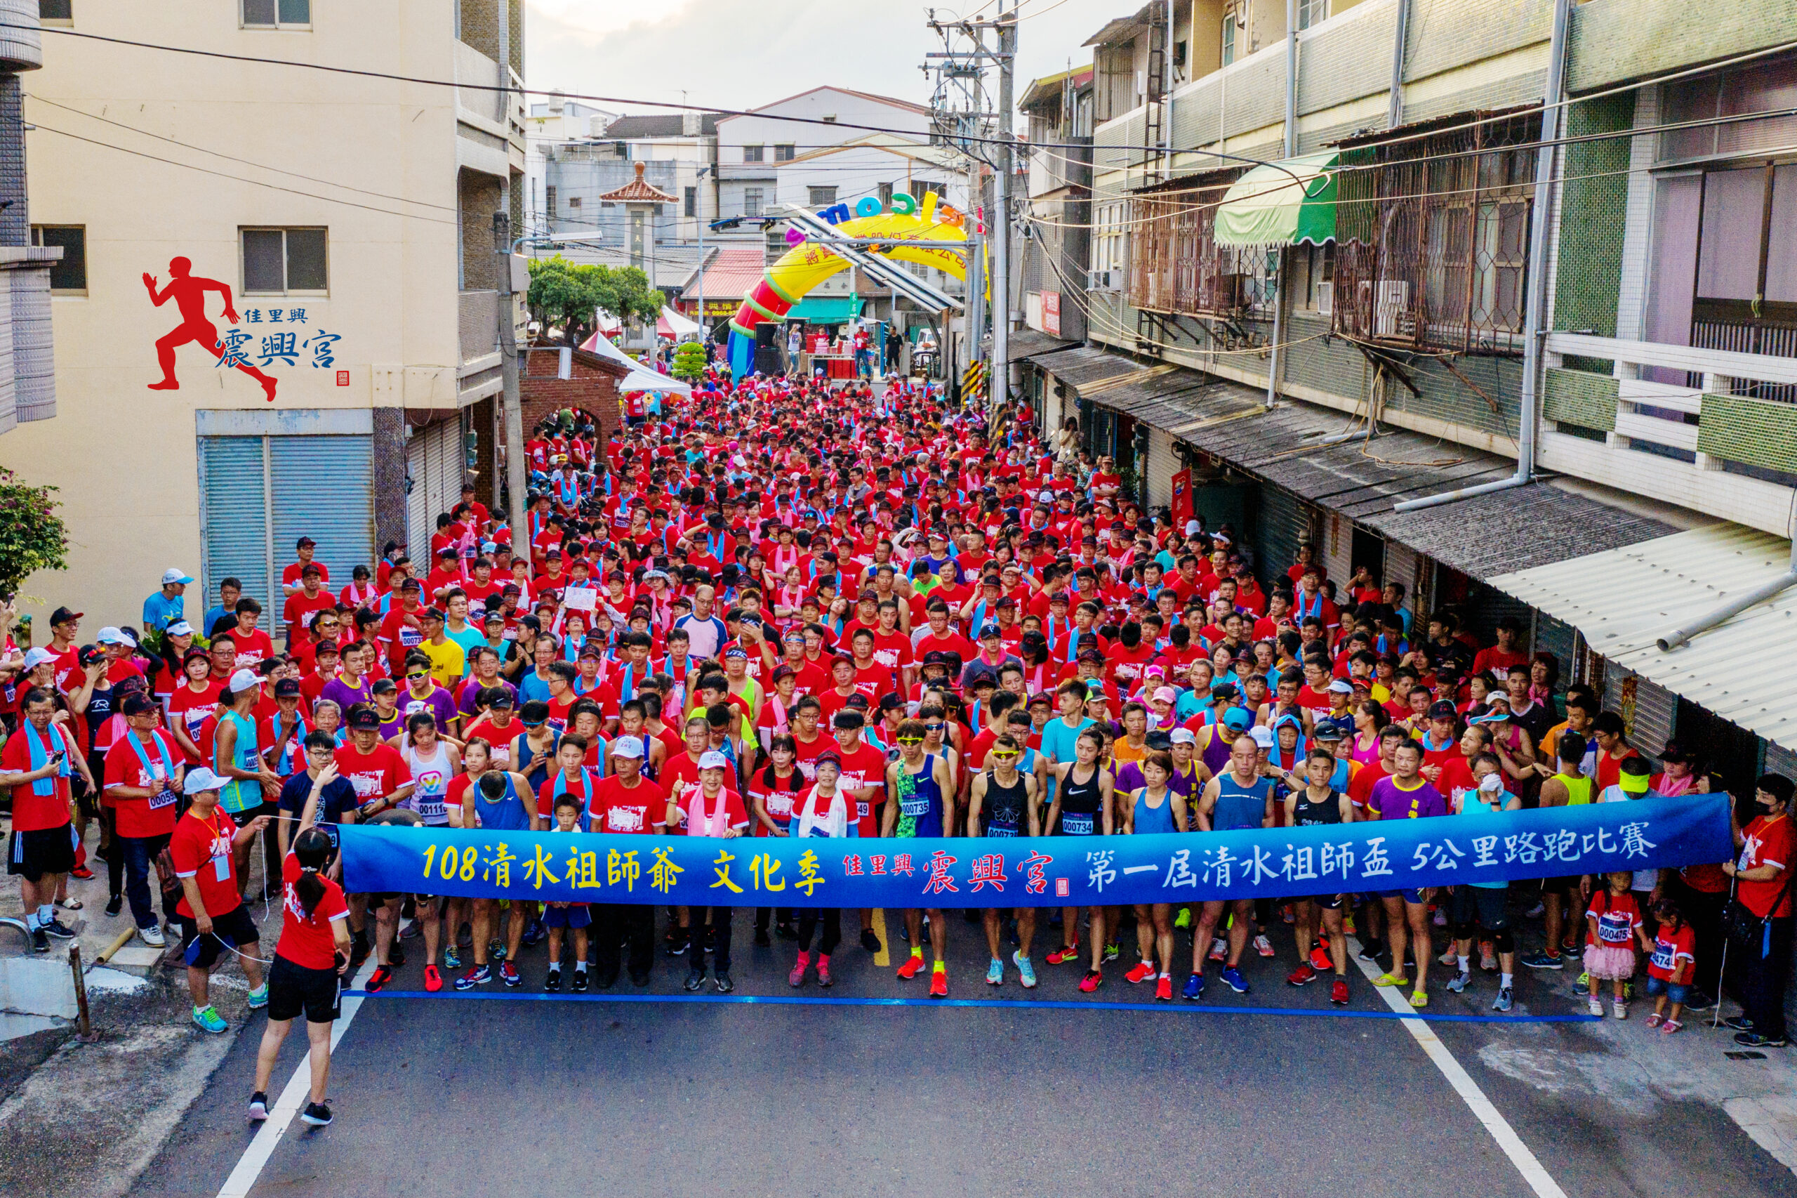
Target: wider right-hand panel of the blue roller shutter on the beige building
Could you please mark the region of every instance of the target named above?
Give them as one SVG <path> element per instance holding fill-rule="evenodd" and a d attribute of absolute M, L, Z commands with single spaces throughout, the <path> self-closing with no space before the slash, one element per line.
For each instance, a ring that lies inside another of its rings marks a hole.
<path fill-rule="evenodd" d="M 277 559 L 309 536 L 331 590 L 349 586 L 356 567 L 374 565 L 374 437 L 270 437 L 268 462 Z"/>

